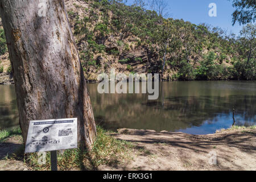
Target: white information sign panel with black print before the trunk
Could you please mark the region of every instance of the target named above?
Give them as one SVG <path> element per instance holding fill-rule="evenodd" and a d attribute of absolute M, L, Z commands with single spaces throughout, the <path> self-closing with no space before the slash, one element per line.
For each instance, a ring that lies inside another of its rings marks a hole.
<path fill-rule="evenodd" d="M 77 118 L 30 121 L 25 153 L 77 148 Z"/>

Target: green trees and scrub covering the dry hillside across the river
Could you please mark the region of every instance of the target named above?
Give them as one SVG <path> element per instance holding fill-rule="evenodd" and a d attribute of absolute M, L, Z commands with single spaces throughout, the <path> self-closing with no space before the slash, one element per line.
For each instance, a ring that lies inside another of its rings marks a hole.
<path fill-rule="evenodd" d="M 68 12 L 85 70 L 97 68 L 95 60 L 101 54 L 102 57 L 114 56 L 127 66 L 127 70 L 133 71 L 129 64 L 133 61 L 144 64 L 142 59 L 119 56 L 122 53 L 120 48 L 122 51 L 135 48 L 146 49 L 157 59 L 154 67 L 147 69 L 150 73 L 165 73 L 168 69 L 179 80 L 255 79 L 255 24 L 245 26 L 236 38 L 234 34 L 208 24 L 196 25 L 183 19 L 164 18 L 164 9 L 161 10 L 160 4 L 160 9 L 156 9 L 155 0 L 150 1 L 155 3 L 152 10 L 145 9 L 146 1 L 143 0 L 135 0 L 132 6 L 127 6 L 122 0 L 86 2 L 89 6 L 82 10 L 86 12 L 83 17 L 74 11 Z M 255 3 L 250 1 L 234 0 L 233 4 L 243 16 L 248 8 L 255 11 Z M 240 22 L 242 19 L 238 14 L 236 21 Z M 255 19 L 255 13 L 250 17 Z M 7 50 L 3 30 L 0 30 L 0 35 L 2 54 Z M 109 38 L 114 38 L 113 44 L 118 48 L 104 46 Z M 105 63 L 104 69 L 109 68 L 108 65 Z"/>

